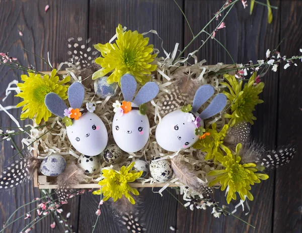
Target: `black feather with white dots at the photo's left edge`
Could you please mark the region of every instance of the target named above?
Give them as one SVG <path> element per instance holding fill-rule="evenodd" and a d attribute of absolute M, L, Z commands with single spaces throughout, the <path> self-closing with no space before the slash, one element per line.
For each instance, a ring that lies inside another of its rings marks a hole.
<path fill-rule="evenodd" d="M 34 157 L 29 150 L 24 150 L 21 153 L 23 158 L 11 163 L 0 175 L 0 189 L 12 189 L 30 180 L 40 167 L 41 160 Z"/>

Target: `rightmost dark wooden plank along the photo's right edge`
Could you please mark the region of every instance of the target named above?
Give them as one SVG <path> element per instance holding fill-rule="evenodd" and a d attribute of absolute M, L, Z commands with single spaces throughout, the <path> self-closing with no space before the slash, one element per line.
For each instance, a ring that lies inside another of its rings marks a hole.
<path fill-rule="evenodd" d="M 301 1 L 281 1 L 281 32 L 285 38 L 280 47 L 282 55 L 291 57 L 301 55 Z M 284 65 L 284 64 L 283 64 Z M 278 103 L 278 141 L 279 146 L 293 144 L 297 154 L 289 165 L 276 170 L 274 199 L 274 232 L 302 231 L 302 157 L 301 140 L 301 88 L 302 65 L 286 70 L 280 67 Z"/>

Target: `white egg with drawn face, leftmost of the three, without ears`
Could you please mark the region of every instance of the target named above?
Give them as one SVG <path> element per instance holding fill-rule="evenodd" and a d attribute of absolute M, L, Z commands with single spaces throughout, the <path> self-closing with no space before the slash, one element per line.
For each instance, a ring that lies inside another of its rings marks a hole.
<path fill-rule="evenodd" d="M 102 120 L 92 112 L 82 114 L 79 120 L 66 127 L 67 136 L 75 150 L 87 156 L 97 156 L 104 151 L 108 135 Z"/>

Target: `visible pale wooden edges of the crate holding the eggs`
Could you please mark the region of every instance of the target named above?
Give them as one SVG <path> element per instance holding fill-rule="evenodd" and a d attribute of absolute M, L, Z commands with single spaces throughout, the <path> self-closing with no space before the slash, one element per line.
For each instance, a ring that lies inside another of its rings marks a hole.
<path fill-rule="evenodd" d="M 207 65 L 207 67 L 211 68 L 214 65 Z M 228 68 L 234 68 L 234 65 L 222 65 L 222 67 L 228 67 Z M 51 71 L 42 71 L 42 73 L 44 74 L 50 74 Z M 58 71 L 58 74 L 67 74 L 66 71 Z M 34 156 L 37 157 L 37 151 L 34 151 Z M 49 176 L 44 176 L 44 175 L 39 175 L 39 171 L 36 171 L 36 173 L 34 174 L 34 187 L 37 187 L 39 189 L 55 189 L 57 187 L 56 184 L 54 184 L 55 182 L 55 178 L 53 177 L 49 177 Z M 141 184 L 141 183 L 130 183 L 129 185 L 133 188 L 152 188 L 152 187 L 164 187 L 167 183 L 155 183 L 155 184 L 149 184 L 149 183 L 145 183 L 145 184 Z M 178 185 L 176 184 L 170 184 L 169 187 L 177 187 Z M 74 185 L 71 186 L 70 188 L 100 188 L 100 185 L 98 185 L 97 183 L 93 183 L 93 184 L 78 184 L 78 185 Z"/>

